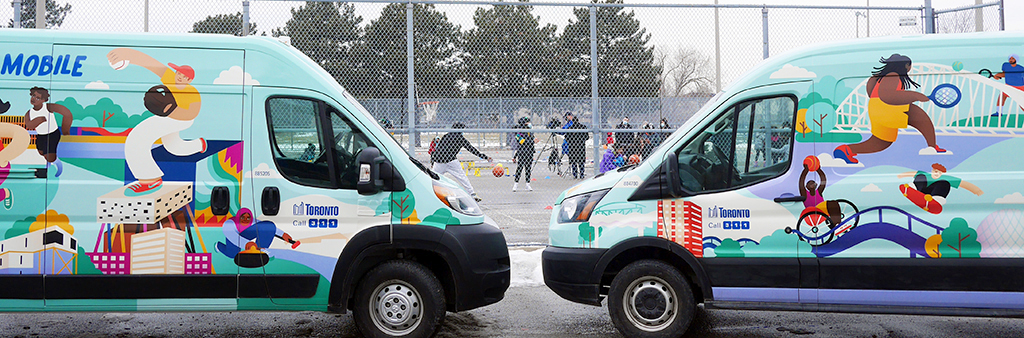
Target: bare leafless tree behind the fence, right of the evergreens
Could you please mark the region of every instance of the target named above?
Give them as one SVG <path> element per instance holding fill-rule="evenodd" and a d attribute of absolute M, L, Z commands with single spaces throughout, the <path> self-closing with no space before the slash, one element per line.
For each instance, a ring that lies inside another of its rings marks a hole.
<path fill-rule="evenodd" d="M 662 67 L 662 96 L 713 93 L 715 75 L 710 56 L 690 47 L 658 48 L 654 62 Z"/>

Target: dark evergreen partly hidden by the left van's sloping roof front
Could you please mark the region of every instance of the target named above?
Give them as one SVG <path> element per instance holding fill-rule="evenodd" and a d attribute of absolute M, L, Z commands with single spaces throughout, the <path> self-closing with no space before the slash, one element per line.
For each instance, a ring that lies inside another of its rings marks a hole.
<path fill-rule="evenodd" d="M 288 36 L 291 44 L 324 68 L 353 95 L 364 97 L 373 88 L 356 50 L 362 45 L 362 16 L 345 2 L 307 1 L 292 8 L 292 18 L 271 36 Z"/>

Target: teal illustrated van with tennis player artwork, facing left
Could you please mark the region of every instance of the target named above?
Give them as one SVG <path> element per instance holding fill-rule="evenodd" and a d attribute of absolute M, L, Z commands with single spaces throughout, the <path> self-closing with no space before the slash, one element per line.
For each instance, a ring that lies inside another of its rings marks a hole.
<path fill-rule="evenodd" d="M 769 58 L 643 162 L 565 191 L 544 279 L 627 337 L 719 308 L 1021 314 L 1024 34 Z"/>

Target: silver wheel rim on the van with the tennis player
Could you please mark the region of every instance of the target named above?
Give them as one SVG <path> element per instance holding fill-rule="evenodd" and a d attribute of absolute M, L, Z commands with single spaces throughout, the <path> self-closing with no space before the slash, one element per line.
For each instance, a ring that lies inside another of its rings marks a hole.
<path fill-rule="evenodd" d="M 626 318 L 637 329 L 646 332 L 665 330 L 676 321 L 679 298 L 665 280 L 645 276 L 630 284 L 623 295 Z"/>

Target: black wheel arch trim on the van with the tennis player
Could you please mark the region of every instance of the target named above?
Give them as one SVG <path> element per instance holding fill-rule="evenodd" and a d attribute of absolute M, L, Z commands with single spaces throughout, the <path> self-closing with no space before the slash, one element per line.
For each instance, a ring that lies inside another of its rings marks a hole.
<path fill-rule="evenodd" d="M 642 259 L 664 261 L 683 273 L 693 286 L 693 300 L 702 303 L 713 300 L 711 279 L 700 261 L 688 250 L 669 240 L 642 237 L 615 244 L 601 256 L 595 266 L 594 281 L 600 281 L 601 294 L 607 295 L 611 281 L 626 265 Z"/>

